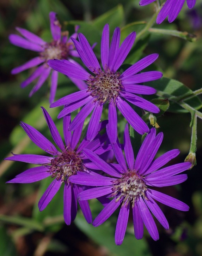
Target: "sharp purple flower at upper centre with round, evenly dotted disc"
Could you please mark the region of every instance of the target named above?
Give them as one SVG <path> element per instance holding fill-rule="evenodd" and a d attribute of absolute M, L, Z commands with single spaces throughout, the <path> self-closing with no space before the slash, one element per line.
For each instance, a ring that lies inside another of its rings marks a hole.
<path fill-rule="evenodd" d="M 97 132 L 100 117 L 102 115 L 103 105 L 109 104 L 109 136 L 111 142 L 115 143 L 117 138 L 117 113 L 116 107 L 126 118 L 133 128 L 140 134 L 149 132 L 149 128 L 141 117 L 126 102 L 130 102 L 135 106 L 146 109 L 152 113 L 158 113 L 159 109 L 153 103 L 143 99 L 135 94 L 154 94 L 154 88 L 140 85 L 139 83 L 159 79 L 162 73 L 159 71 L 148 71 L 139 73 L 145 69 L 157 58 L 158 54 L 151 54 L 139 60 L 129 67 L 122 74 L 117 70 L 126 59 L 133 43 L 136 33 L 132 32 L 126 37 L 120 45 L 120 28 L 116 28 L 112 37 L 111 45 L 109 44 L 109 24 L 103 29 L 101 40 L 101 61 L 103 70 L 90 47 L 84 35 L 78 34 L 79 42 L 72 38 L 81 60 L 90 70 L 88 73 L 84 69 L 72 64 L 68 60 L 49 60 L 48 65 L 54 70 L 59 71 L 69 77 L 74 77 L 86 81 L 88 87 L 85 90 L 67 95 L 62 99 L 51 104 L 50 107 L 66 105 L 59 118 L 71 113 L 75 109 L 84 106 L 76 115 L 69 130 L 74 130 L 87 115 L 92 113 L 92 117 L 87 130 L 87 139 L 91 140 Z"/>

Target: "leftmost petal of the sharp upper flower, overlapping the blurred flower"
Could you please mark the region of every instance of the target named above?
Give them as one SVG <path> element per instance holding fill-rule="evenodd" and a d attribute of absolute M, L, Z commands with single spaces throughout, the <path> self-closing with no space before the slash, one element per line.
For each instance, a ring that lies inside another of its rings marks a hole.
<path fill-rule="evenodd" d="M 73 64 L 68 60 L 66 61 L 56 60 L 56 59 L 48 60 L 48 65 L 52 69 L 69 77 L 74 77 L 81 80 L 87 80 L 90 76 L 88 72 L 86 72 L 84 69 L 80 69 L 78 66 L 76 66 L 75 64 Z"/>

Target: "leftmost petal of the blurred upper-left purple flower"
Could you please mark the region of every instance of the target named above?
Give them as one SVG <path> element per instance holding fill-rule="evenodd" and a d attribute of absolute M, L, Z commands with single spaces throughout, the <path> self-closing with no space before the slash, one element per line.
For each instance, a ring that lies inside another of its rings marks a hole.
<path fill-rule="evenodd" d="M 19 46 L 19 47 L 22 47 L 24 49 L 33 50 L 35 52 L 42 52 L 43 51 L 43 47 L 41 47 L 40 45 L 38 45 L 36 43 L 32 43 L 32 42 L 30 42 L 30 41 L 26 40 L 25 38 L 23 38 L 21 36 L 18 36 L 18 35 L 11 34 L 9 36 L 9 40 L 15 46 Z"/>

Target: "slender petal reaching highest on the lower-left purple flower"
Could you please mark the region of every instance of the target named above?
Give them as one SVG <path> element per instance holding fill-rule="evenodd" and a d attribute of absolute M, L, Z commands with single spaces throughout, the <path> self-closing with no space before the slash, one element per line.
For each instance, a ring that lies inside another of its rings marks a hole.
<path fill-rule="evenodd" d="M 62 141 L 62 138 L 60 136 L 59 131 L 57 130 L 55 123 L 53 121 L 53 119 L 50 117 L 49 113 L 45 110 L 44 107 L 41 107 L 42 111 L 43 111 L 43 115 L 45 117 L 45 120 L 47 122 L 48 128 L 50 130 L 51 136 L 53 138 L 53 140 L 55 141 L 55 143 L 58 145 L 58 147 L 63 151 L 65 150 L 65 146 L 64 143 Z"/>

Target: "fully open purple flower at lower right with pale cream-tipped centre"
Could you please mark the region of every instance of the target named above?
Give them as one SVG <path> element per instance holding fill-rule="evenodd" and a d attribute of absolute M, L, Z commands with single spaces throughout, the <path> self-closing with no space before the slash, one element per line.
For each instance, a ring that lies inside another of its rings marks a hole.
<path fill-rule="evenodd" d="M 107 130 L 109 130 L 109 127 L 107 127 Z M 88 200 L 100 196 L 112 198 L 110 203 L 106 205 L 93 221 L 94 226 L 101 225 L 121 205 L 115 231 L 115 242 L 117 245 L 123 242 L 130 209 L 133 212 L 135 237 L 137 239 L 143 237 L 143 224 L 145 224 L 154 240 L 159 239 L 159 234 L 152 214 L 164 228 L 169 229 L 166 217 L 155 200 L 178 210 L 189 210 L 185 203 L 152 188 L 153 186 L 164 187 L 182 183 L 187 179 L 187 175 L 179 173 L 191 166 L 191 163 L 184 162 L 163 168 L 164 165 L 179 154 L 178 149 L 170 150 L 154 160 L 162 140 L 163 133 L 160 132 L 156 136 L 156 131 L 152 128 L 143 141 L 136 160 L 134 160 L 128 125 L 126 125 L 124 131 L 124 151 L 127 165 L 117 139 L 117 142 L 112 144 L 118 161 L 116 167 L 104 162 L 91 150 L 83 150 L 86 157 L 110 177 L 86 173 L 70 177 L 73 183 L 96 186 L 79 193 L 79 200 Z"/>

